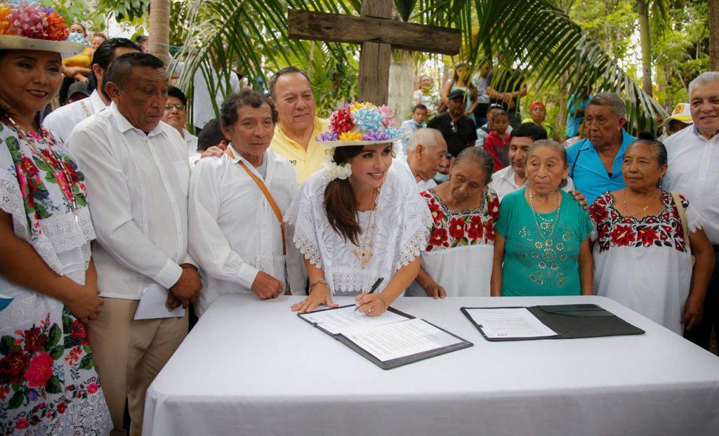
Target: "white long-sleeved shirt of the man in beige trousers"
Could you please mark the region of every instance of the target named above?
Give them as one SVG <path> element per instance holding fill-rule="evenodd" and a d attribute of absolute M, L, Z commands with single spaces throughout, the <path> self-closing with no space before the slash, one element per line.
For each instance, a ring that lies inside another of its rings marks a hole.
<path fill-rule="evenodd" d="M 164 122 L 145 135 L 117 106 L 78 124 L 68 147 L 81 163 L 97 241 L 101 296 L 140 299 L 151 283 L 170 288 L 193 263 L 187 253 L 187 147 Z"/>

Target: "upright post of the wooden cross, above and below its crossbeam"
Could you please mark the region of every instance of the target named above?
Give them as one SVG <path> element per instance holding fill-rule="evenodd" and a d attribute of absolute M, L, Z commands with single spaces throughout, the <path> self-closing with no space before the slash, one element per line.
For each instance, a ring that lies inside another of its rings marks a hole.
<path fill-rule="evenodd" d="M 362 17 L 392 19 L 394 3 L 389 0 L 365 0 Z M 362 42 L 359 52 L 359 101 L 387 104 L 390 83 L 392 46 L 377 42 Z"/>

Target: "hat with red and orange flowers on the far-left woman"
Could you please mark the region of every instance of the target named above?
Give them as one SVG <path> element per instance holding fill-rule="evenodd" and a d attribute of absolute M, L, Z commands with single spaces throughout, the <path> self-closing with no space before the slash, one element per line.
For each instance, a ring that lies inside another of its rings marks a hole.
<path fill-rule="evenodd" d="M 0 4 L 0 50 L 41 50 L 67 58 L 85 46 L 69 42 L 65 19 L 35 0 L 9 0 Z"/>

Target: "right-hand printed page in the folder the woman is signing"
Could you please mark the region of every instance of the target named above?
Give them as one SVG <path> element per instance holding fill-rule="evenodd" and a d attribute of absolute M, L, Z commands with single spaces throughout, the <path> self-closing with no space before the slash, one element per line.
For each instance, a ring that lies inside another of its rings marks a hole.
<path fill-rule="evenodd" d="M 345 332 L 344 336 L 383 362 L 462 342 L 419 318 L 360 327 Z"/>

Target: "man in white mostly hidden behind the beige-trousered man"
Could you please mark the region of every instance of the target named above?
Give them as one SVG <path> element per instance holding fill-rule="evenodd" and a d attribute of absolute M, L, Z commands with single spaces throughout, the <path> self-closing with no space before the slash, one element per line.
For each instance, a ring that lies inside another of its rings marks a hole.
<path fill-rule="evenodd" d="M 68 140 L 70 132 L 75 125 L 83 119 L 100 112 L 110 104 L 110 97 L 107 96 L 102 86 L 98 86 L 98 83 L 103 83 L 105 72 L 112 61 L 126 53 L 139 51 L 137 44 L 125 38 L 111 38 L 103 42 L 97 47 L 97 50 L 95 50 L 90 65 L 92 70 L 90 88 L 94 90 L 92 94 L 90 94 L 87 99 L 65 104 L 65 106 L 50 112 L 50 114 L 42 120 L 42 125 L 60 137 L 60 140 L 63 140 L 63 142 Z"/>

